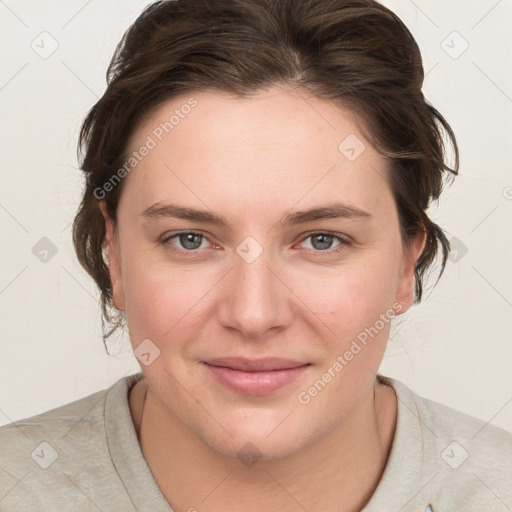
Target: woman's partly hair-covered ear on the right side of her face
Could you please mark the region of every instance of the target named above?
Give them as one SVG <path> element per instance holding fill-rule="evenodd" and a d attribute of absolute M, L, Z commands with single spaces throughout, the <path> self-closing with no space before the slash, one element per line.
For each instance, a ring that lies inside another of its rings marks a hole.
<path fill-rule="evenodd" d="M 393 309 L 397 315 L 405 313 L 414 303 L 416 262 L 425 248 L 427 234 L 424 230 L 418 231 L 404 247 L 398 286 L 395 296 L 396 307 Z"/>

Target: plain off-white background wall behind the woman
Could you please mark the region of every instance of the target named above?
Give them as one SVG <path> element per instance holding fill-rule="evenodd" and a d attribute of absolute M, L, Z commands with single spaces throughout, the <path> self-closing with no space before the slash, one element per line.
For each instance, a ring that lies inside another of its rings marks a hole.
<path fill-rule="evenodd" d="M 0 424 L 140 370 L 126 336 L 109 342 L 112 356 L 104 350 L 71 222 L 80 123 L 148 3 L 0 0 Z M 453 240 L 445 274 L 398 317 L 380 372 L 512 431 L 512 2 L 383 3 L 420 45 L 424 93 L 456 133 L 461 168 L 431 208 Z M 53 247 L 46 261 L 41 247 Z"/>

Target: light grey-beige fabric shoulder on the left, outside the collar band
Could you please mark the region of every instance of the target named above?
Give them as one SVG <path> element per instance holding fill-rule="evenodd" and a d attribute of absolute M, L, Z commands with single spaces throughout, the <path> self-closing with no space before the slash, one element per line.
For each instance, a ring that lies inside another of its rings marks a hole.
<path fill-rule="evenodd" d="M 89 510 L 98 483 L 108 481 L 112 490 L 121 484 L 113 479 L 105 409 L 109 393 L 122 393 L 128 383 L 120 379 L 108 389 L 0 427 L 2 510 L 46 510 L 48 503 Z M 126 401 L 119 407 L 126 408 Z"/>

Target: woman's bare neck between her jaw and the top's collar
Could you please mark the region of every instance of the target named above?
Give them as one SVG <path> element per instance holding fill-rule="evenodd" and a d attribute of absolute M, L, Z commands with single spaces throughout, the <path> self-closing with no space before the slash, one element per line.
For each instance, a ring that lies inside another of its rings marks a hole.
<path fill-rule="evenodd" d="M 262 503 L 269 512 L 360 510 L 377 487 L 395 431 L 396 396 L 376 380 L 361 406 L 319 442 L 244 467 L 206 446 L 169 415 L 144 380 L 139 383 L 134 425 L 155 480 L 176 512 L 194 507 L 217 512 L 233 502 L 243 503 L 246 512 L 261 511 Z"/>

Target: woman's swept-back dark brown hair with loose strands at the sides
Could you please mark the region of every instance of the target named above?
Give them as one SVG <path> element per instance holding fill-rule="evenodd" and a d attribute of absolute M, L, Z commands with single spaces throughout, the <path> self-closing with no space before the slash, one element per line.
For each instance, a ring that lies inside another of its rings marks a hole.
<path fill-rule="evenodd" d="M 426 231 L 415 271 L 419 302 L 439 247 L 439 276 L 450 248 L 426 209 L 439 198 L 445 171 L 453 176 L 459 167 L 455 135 L 425 100 L 423 79 L 412 34 L 374 0 L 163 0 L 146 7 L 118 44 L 107 89 L 79 137 L 85 190 L 73 242 L 101 290 L 104 339 L 123 325 L 124 315 L 113 304 L 95 190 L 105 190 L 125 164 L 142 120 L 175 96 L 209 89 L 247 97 L 279 84 L 300 87 L 356 114 L 364 136 L 391 160 L 404 247 Z M 444 135 L 454 150 L 453 168 L 445 164 Z M 123 181 L 110 188 L 102 200 L 116 220 Z"/>

